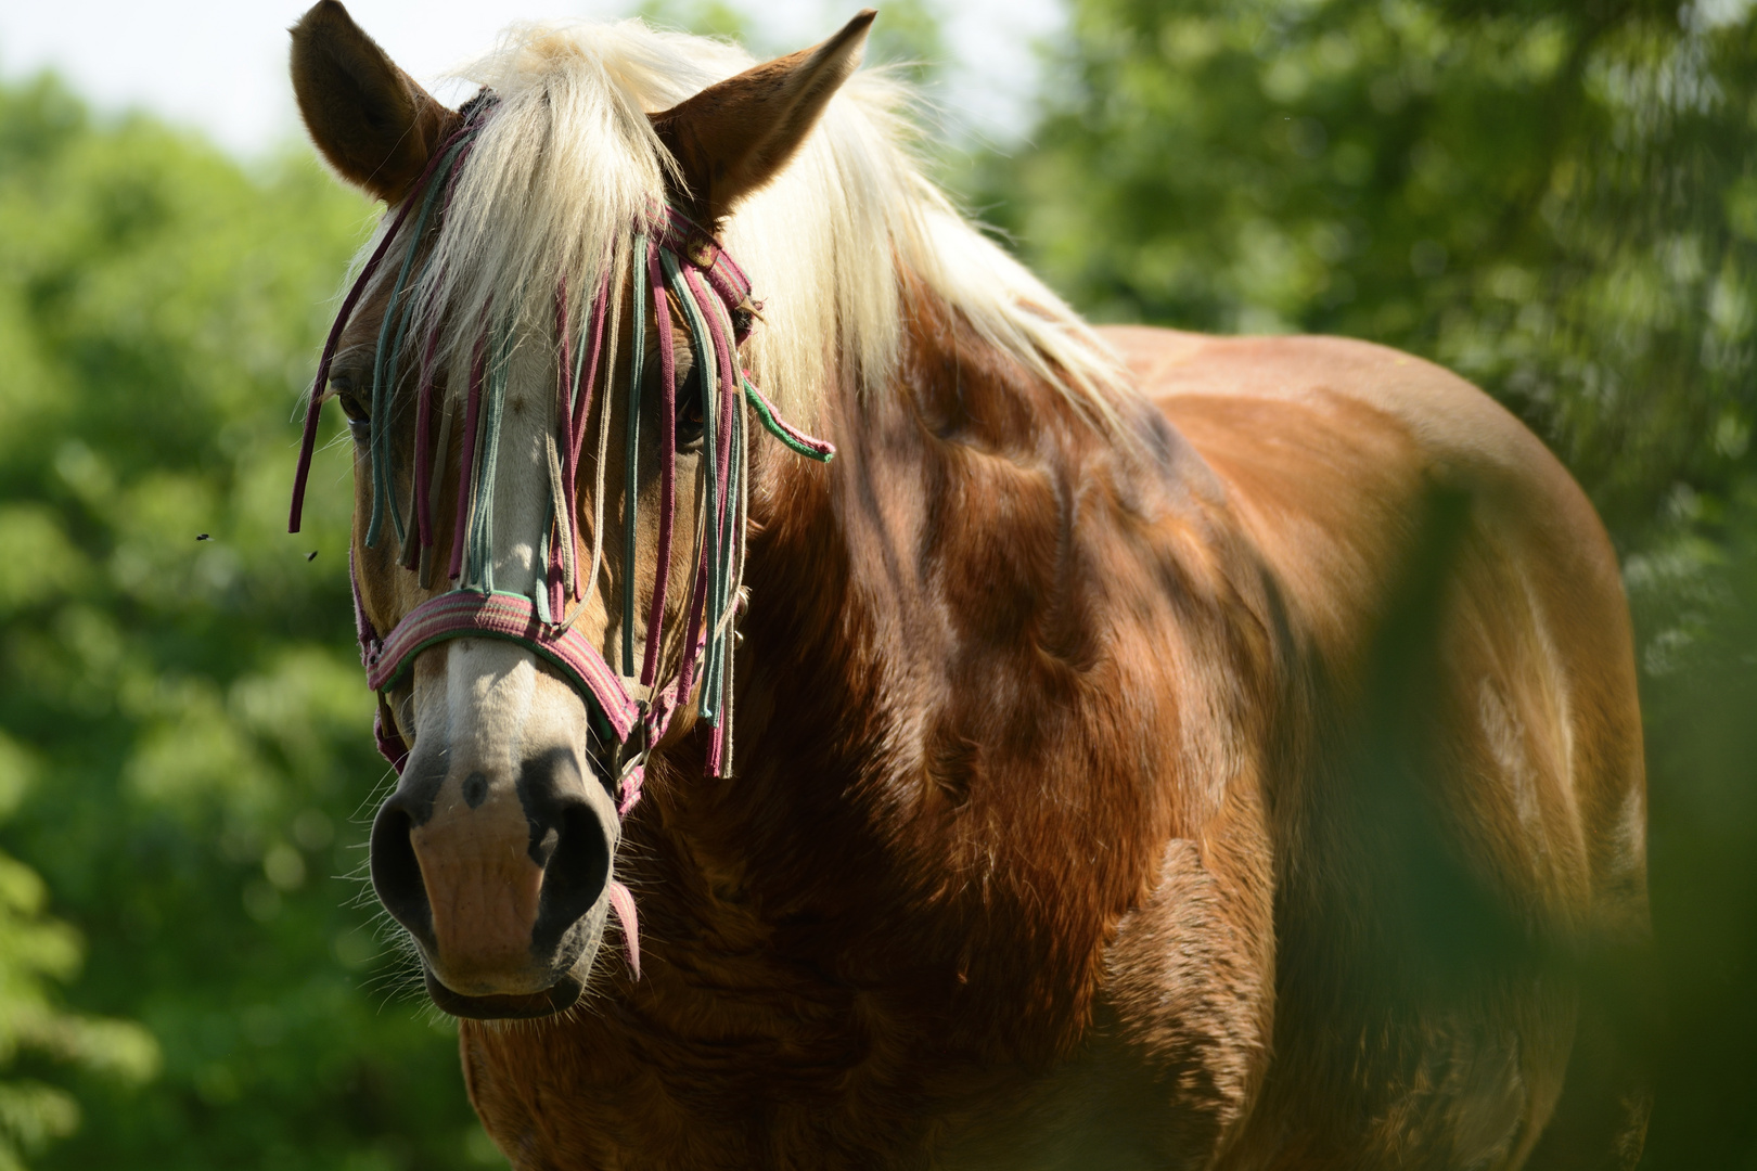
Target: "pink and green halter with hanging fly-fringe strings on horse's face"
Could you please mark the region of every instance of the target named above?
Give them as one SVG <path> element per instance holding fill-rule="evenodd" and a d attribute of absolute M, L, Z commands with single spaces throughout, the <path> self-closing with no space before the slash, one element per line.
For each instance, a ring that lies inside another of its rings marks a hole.
<path fill-rule="evenodd" d="M 311 404 L 306 411 L 299 469 L 293 478 L 293 499 L 288 532 L 299 532 L 306 481 L 316 446 L 318 416 L 323 390 L 336 358 L 341 334 L 360 302 L 367 284 L 383 267 L 392 242 L 406 237 L 402 262 L 392 281 L 390 300 L 380 328 L 372 369 L 372 427 L 369 435 L 372 513 L 367 523 L 365 544 L 376 546 L 383 537 L 385 520 L 399 542 L 399 564 L 418 567 L 422 586 L 429 585 L 434 562 L 436 525 L 432 520 L 437 478 L 432 460 L 443 455 L 452 427 L 452 411 L 434 404 L 434 353 L 437 327 L 429 325 L 429 335 L 418 346 L 420 377 L 416 390 L 415 437 L 415 493 L 409 500 L 409 523 L 394 499 L 395 476 L 390 448 L 390 399 L 397 384 L 397 365 L 408 337 L 416 323 L 415 290 L 422 288 L 425 267 L 415 272 L 423 235 L 443 221 L 450 209 L 457 176 L 467 160 L 476 137 L 488 121 L 497 98 L 483 90 L 460 111 L 462 125 L 446 139 L 427 163 L 409 197 L 397 209 L 390 228 L 372 249 L 358 277 L 343 298 L 341 313 L 330 327 L 318 362 Z M 434 219 L 434 216 L 439 219 Z M 413 226 L 404 232 L 404 226 Z M 427 262 L 430 263 L 430 260 Z M 745 342 L 761 316 L 761 302 L 750 297 L 750 279 L 726 253 L 724 246 L 705 228 L 669 205 L 654 207 L 645 225 L 638 225 L 631 246 L 629 307 L 633 311 L 633 355 L 629 362 L 629 397 L 625 404 L 627 442 L 627 499 L 638 488 L 638 451 L 641 421 L 641 370 L 645 363 L 647 311 L 661 339 L 659 348 L 659 574 L 648 607 L 647 639 L 636 672 L 633 581 L 622 595 L 622 671 L 617 671 L 585 636 L 573 629 L 573 614 L 583 604 L 587 590 L 599 569 L 603 551 L 603 525 L 594 525 L 594 542 L 589 569 L 582 569 L 578 539 L 578 478 L 582 448 L 590 420 L 592 392 L 603 381 L 604 393 L 615 386 L 613 370 L 606 362 L 606 323 L 611 318 L 611 288 L 606 267 L 594 290 L 585 321 L 569 323 L 568 288 L 555 291 L 555 330 L 560 341 L 557 363 L 557 442 L 550 451 L 553 506 L 550 528 L 543 542 L 545 578 L 532 597 L 494 588 L 494 467 L 499 446 L 501 411 L 506 393 L 506 367 L 513 339 L 504 327 L 481 321 L 474 341 L 469 383 L 464 393 L 462 467 L 459 474 L 457 523 L 452 530 L 450 578 L 457 583 L 409 611 L 395 629 L 380 637 L 365 614 L 360 579 L 353 555 L 348 557 L 348 576 L 353 586 L 355 621 L 360 639 L 360 658 L 367 683 L 380 695 L 374 734 L 380 751 L 401 772 L 408 758 L 408 744 L 395 727 L 387 700 L 420 651 L 436 643 L 457 637 L 495 637 L 517 643 L 548 662 L 585 697 L 594 725 L 604 741 L 613 744 L 611 762 L 617 772 L 618 811 L 627 813 L 640 801 L 647 755 L 659 743 L 676 709 L 689 700 L 696 685 L 699 716 L 712 727 L 708 748 L 708 774 L 726 776 L 731 769 L 731 699 L 733 699 L 733 629 L 743 604 L 740 583 L 743 578 L 743 544 L 747 525 L 747 427 L 740 406 L 756 414 L 757 423 L 798 455 L 828 462 L 835 448 L 805 435 L 782 420 L 775 407 L 752 384 L 738 360 Z M 415 279 L 411 281 L 411 274 Z M 671 298 L 682 309 L 682 325 L 696 353 L 701 370 L 703 395 L 703 474 L 706 481 L 705 516 L 699 530 L 699 548 L 685 607 L 683 657 L 678 674 L 659 686 L 659 643 L 664 621 L 664 600 L 671 564 L 671 541 L 676 523 L 676 383 L 671 358 Z M 578 334 L 576 334 L 578 332 Z M 578 341 L 578 346 L 575 346 Z M 615 341 L 610 341 L 613 353 Z M 599 367 L 604 365 L 603 379 Z M 611 404 L 604 404 L 610 411 Z M 434 420 L 443 414 L 441 432 L 432 434 Z M 608 420 L 601 425 L 599 444 L 608 441 Z M 603 462 L 599 460 L 599 469 Z M 603 472 L 601 472 L 603 476 Z M 603 509 L 603 483 L 594 499 Z M 622 555 L 634 564 L 634 525 L 627 525 Z M 633 922 L 633 920 L 631 920 Z"/>

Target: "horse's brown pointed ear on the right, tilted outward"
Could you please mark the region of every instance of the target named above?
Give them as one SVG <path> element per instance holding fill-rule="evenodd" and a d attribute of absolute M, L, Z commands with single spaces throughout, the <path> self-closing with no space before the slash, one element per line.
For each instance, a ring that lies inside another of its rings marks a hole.
<path fill-rule="evenodd" d="M 727 77 L 650 116 L 683 172 L 683 195 L 696 219 L 715 225 L 780 174 L 859 67 L 873 16 L 861 9 L 829 40 Z"/>

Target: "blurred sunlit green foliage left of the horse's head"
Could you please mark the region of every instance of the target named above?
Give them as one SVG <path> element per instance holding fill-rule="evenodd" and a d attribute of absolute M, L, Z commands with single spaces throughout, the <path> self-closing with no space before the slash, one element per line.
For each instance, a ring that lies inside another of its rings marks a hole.
<path fill-rule="evenodd" d="M 306 153 L 248 174 L 54 81 L 0 88 L 0 771 L 37 778 L 0 823 L 0 1060 L 35 1045 L 0 1136 L 104 1120 L 44 1167 L 499 1162 L 360 897 L 387 769 L 346 448 L 285 535 L 297 390 L 369 219 Z M 144 1071 L 139 1032 L 47 1008 L 76 936 L 26 866 L 90 943 L 67 999 L 141 1022 L 153 1081 L 98 1069 Z"/>

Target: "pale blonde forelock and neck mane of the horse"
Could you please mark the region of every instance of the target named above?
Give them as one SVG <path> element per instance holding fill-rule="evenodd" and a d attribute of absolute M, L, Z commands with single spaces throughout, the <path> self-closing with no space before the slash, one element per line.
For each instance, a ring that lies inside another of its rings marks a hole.
<path fill-rule="evenodd" d="M 671 160 L 647 114 L 752 63 L 638 19 L 508 30 L 459 74 L 492 88 L 499 107 L 460 169 L 415 304 L 430 320 L 492 316 L 515 337 L 552 337 L 564 279 L 578 323 L 599 281 L 625 272 L 631 228 L 664 200 Z M 1088 418 L 1114 420 L 1124 383 L 1109 348 L 922 176 L 905 146 L 908 97 L 884 72 L 856 74 L 798 158 L 727 219 L 727 251 L 764 304 L 747 351 L 754 377 L 805 425 L 836 377 L 882 393 L 910 274 Z M 452 330 L 453 370 L 473 334 Z"/>

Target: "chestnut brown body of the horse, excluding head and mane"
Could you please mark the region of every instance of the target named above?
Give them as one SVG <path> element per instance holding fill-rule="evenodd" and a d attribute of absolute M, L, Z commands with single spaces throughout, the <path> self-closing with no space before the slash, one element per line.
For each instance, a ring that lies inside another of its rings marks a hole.
<path fill-rule="evenodd" d="M 1388 941 L 1337 897 L 1370 885 L 1321 825 L 1348 781 L 1325 722 L 1362 686 L 1430 478 L 1467 485 L 1425 729 L 1462 762 L 1434 778 L 1458 830 L 1439 844 L 1536 929 L 1639 938 L 1627 616 L 1590 507 L 1500 407 L 1407 356 L 1112 339 L 1161 413 L 1135 420 L 1151 460 L 945 327 L 914 339 L 893 407 L 835 414 L 838 478 L 763 469 L 752 592 L 798 602 L 745 625 L 740 774 L 705 790 L 682 757 L 627 825 L 643 978 L 541 1031 L 464 1025 L 520 1166 L 1530 1152 L 1574 995 L 1351 997 Z"/>

